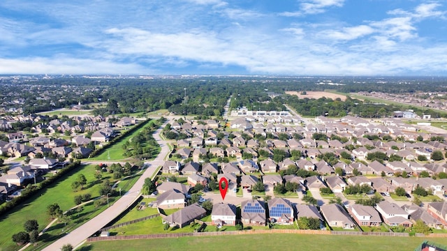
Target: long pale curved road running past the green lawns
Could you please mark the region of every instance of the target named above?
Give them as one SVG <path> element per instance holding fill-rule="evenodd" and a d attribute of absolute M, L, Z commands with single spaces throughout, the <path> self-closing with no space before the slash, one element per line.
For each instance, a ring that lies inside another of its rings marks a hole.
<path fill-rule="evenodd" d="M 51 245 L 47 246 L 44 250 L 54 251 L 61 250 L 63 245 L 70 243 L 73 247 L 78 246 L 80 243 L 85 241 L 86 238 L 94 234 L 96 231 L 107 225 L 113 219 L 117 217 L 122 211 L 126 210 L 130 206 L 130 204 L 135 201 L 140 196 L 140 190 L 142 185 L 145 183 L 145 178 L 150 178 L 152 174 L 156 171 L 156 168 L 163 165 L 164 158 L 169 153 L 169 147 L 166 142 L 163 141 L 160 137 L 160 132 L 163 127 L 168 123 L 166 121 L 163 126 L 161 126 L 158 130 L 154 132 L 154 139 L 161 146 L 161 151 L 159 155 L 152 161 L 146 162 L 145 164 L 148 166 L 142 176 L 138 179 L 138 181 L 133 185 L 133 187 L 126 192 L 121 198 L 119 198 L 112 206 L 105 209 L 102 213 L 97 215 L 95 218 L 89 220 L 84 225 L 78 227 L 77 229 L 71 231 L 66 236 L 60 238 L 55 241 Z"/>

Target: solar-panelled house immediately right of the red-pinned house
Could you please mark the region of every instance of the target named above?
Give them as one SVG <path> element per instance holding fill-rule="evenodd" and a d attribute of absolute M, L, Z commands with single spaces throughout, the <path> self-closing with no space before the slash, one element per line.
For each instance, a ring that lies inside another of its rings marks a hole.
<path fill-rule="evenodd" d="M 265 226 L 266 215 L 264 201 L 249 199 L 242 201 L 240 205 L 241 221 L 245 225 L 263 225 Z"/>

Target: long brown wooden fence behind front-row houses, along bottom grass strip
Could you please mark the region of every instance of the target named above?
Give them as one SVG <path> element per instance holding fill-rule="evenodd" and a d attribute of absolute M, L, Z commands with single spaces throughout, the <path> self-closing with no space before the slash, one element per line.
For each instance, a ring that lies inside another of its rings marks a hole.
<path fill-rule="evenodd" d="M 193 232 L 178 234 L 142 234 L 133 236 L 105 236 L 90 237 L 87 241 L 117 241 L 117 240 L 136 240 L 152 238 L 178 238 L 185 236 L 225 236 L 240 234 L 330 234 L 330 235 L 352 235 L 352 236 L 401 236 L 409 237 L 408 233 L 392 232 L 360 232 L 360 231 L 325 231 L 325 230 L 298 230 L 298 229 L 256 229 L 242 231 L 211 231 L 211 232 Z"/>

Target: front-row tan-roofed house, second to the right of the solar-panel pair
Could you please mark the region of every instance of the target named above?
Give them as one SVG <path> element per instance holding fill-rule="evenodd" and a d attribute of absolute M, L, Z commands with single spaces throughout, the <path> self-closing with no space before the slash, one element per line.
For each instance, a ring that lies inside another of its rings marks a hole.
<path fill-rule="evenodd" d="M 330 227 L 342 227 L 343 229 L 356 227 L 356 223 L 353 222 L 351 216 L 339 204 L 323 205 L 320 207 L 320 211 Z"/>

